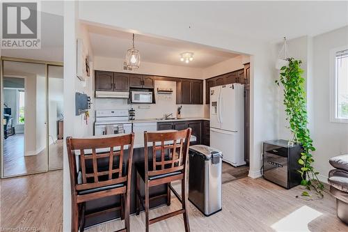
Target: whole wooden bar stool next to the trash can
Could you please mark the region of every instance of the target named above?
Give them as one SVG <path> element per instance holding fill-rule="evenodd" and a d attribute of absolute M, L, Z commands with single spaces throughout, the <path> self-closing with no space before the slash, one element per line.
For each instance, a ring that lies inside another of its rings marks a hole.
<path fill-rule="evenodd" d="M 189 216 L 187 214 L 187 160 L 191 128 L 181 131 L 145 132 L 145 162 L 136 163 L 136 215 L 139 215 L 140 204 L 145 208 L 146 232 L 149 225 L 175 215 L 183 214 L 185 231 L 189 229 Z M 148 143 L 152 144 L 152 155 L 149 160 Z M 145 206 L 140 194 L 140 178 L 145 183 Z M 173 189 L 171 182 L 181 180 L 182 196 Z M 167 184 L 167 205 L 171 203 L 171 190 L 182 203 L 182 208 L 166 215 L 149 219 L 149 189 L 152 186 Z"/>

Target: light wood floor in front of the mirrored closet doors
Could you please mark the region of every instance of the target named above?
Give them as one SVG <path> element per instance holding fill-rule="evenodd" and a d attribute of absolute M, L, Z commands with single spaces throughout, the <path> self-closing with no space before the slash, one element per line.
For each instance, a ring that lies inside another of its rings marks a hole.
<path fill-rule="evenodd" d="M 62 170 L 2 179 L 0 188 L 0 229 L 63 231 Z"/>

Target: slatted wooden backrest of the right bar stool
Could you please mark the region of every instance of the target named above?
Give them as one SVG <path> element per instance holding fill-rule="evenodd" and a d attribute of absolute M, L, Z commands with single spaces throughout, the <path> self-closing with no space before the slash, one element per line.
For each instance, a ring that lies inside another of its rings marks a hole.
<path fill-rule="evenodd" d="M 154 176 L 173 170 L 186 170 L 190 137 L 191 128 L 173 132 L 145 132 L 145 173 Z M 152 143 L 152 167 L 149 166 L 148 160 L 148 142 Z M 157 157 L 157 154 L 161 157 Z"/>

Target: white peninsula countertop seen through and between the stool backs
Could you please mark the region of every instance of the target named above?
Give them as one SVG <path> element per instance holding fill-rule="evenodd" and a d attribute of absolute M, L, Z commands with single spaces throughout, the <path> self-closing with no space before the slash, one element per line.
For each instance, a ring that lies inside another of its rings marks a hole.
<path fill-rule="evenodd" d="M 176 131 L 176 130 L 160 130 L 160 131 L 156 131 L 156 132 L 170 132 L 170 131 Z M 102 138 L 107 138 L 107 137 L 118 137 L 118 136 L 122 136 L 123 134 L 109 134 L 109 135 L 100 135 L 100 136 L 90 136 L 90 137 L 84 137 L 84 139 L 102 139 Z M 191 135 L 191 139 L 190 142 L 192 141 L 196 141 L 197 138 L 194 135 Z M 165 145 L 171 144 L 170 141 L 167 141 L 164 143 Z M 156 143 L 157 146 L 161 145 L 161 143 Z M 148 146 L 152 146 L 152 143 L 148 143 Z M 134 133 L 134 146 L 133 148 L 143 148 L 144 147 L 144 134 L 143 133 Z M 125 150 L 128 149 L 128 146 L 125 146 Z M 114 150 L 120 150 L 120 147 L 114 147 Z M 104 153 L 104 152 L 108 152 L 110 151 L 110 148 L 100 148 L 97 149 L 96 152 L 97 153 Z M 92 150 L 88 149 L 88 150 L 84 150 L 85 154 L 91 154 Z M 79 150 L 75 150 L 75 155 L 79 155 L 80 151 Z"/>

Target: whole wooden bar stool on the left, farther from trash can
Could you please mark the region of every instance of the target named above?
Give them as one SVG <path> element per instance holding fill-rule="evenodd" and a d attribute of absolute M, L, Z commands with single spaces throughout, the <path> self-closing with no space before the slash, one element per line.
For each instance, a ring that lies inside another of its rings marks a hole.
<path fill-rule="evenodd" d="M 84 212 L 86 201 L 113 195 L 120 195 L 121 206 L 101 212 L 121 210 L 125 228 L 119 231 L 130 231 L 129 201 L 133 144 L 133 133 L 101 139 L 67 137 L 73 232 L 84 231 L 84 219 L 88 216 Z M 125 146 L 128 148 L 126 164 L 124 164 Z M 75 156 L 75 150 L 79 150 L 79 155 Z M 77 157 L 79 157 L 79 168 L 77 168 Z M 93 215 L 95 214 L 96 212 L 93 212 Z"/>

